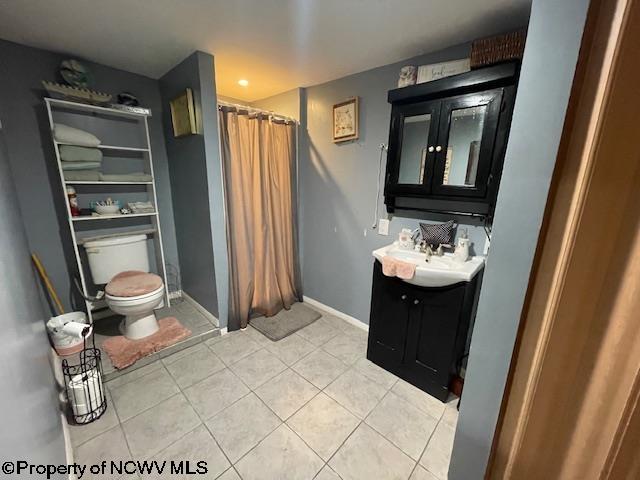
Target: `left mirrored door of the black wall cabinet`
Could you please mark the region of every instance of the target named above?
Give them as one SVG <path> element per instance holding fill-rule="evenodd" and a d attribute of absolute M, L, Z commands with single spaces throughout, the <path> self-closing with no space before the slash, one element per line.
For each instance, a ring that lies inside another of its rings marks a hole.
<path fill-rule="evenodd" d="M 394 105 L 385 194 L 424 195 L 431 189 L 440 101 Z"/>

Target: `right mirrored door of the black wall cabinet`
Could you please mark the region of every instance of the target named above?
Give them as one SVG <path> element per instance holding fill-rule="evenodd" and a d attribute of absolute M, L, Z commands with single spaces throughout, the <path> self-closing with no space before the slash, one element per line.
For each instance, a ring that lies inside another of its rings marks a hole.
<path fill-rule="evenodd" d="M 442 101 L 434 195 L 486 196 L 502 94 L 500 88 Z"/>

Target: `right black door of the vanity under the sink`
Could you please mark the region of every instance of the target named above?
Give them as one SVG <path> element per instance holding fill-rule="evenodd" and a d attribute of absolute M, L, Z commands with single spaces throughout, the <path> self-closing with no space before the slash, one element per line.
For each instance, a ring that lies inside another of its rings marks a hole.
<path fill-rule="evenodd" d="M 425 289 L 412 299 L 404 368 L 412 383 L 446 400 L 465 286 Z"/>

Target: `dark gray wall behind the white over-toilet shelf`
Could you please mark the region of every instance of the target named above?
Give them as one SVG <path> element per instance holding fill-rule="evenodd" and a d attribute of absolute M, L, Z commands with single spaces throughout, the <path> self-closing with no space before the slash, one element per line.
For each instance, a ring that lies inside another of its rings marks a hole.
<path fill-rule="evenodd" d="M 42 80 L 57 80 L 60 61 L 66 58 L 69 57 L 0 40 L 0 109 L 4 112 L 5 138 L 28 248 L 40 255 L 65 308 L 70 308 L 75 257 L 42 100 L 46 94 L 41 85 Z M 97 90 L 131 92 L 153 111 L 149 128 L 165 260 L 178 266 L 158 82 L 91 62 L 85 64 L 95 76 Z"/>

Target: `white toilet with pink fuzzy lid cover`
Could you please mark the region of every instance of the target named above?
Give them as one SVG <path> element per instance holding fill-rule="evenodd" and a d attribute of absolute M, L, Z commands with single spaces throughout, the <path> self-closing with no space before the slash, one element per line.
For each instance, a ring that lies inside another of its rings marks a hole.
<path fill-rule="evenodd" d="M 106 284 L 105 301 L 124 315 L 122 334 L 138 340 L 158 331 L 154 310 L 164 306 L 162 278 L 149 272 L 146 235 L 85 242 L 89 269 L 96 285 Z"/>

